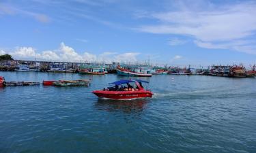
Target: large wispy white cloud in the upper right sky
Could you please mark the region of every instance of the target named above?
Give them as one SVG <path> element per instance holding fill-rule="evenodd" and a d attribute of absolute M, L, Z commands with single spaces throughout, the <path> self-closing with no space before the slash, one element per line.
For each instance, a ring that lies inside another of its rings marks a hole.
<path fill-rule="evenodd" d="M 176 3 L 178 7 L 175 11 L 149 15 L 154 20 L 158 20 L 159 24 L 143 25 L 138 30 L 147 33 L 190 36 L 197 40 L 195 44 L 206 48 L 226 48 L 223 46 L 234 44 L 235 41 L 248 41 L 255 36 L 255 2 L 229 3 L 220 6 L 199 1 L 197 7 L 192 8 L 184 1 L 176 1 Z M 221 42 L 221 46 L 216 42 Z M 256 54 L 255 47 L 255 44 L 246 46 L 242 44 L 237 46 L 236 50 Z M 229 49 L 235 50 L 235 48 Z"/>

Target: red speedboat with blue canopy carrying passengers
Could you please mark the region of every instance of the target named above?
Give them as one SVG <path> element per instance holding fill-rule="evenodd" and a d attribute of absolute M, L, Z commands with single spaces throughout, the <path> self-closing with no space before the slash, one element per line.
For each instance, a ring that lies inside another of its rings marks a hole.
<path fill-rule="evenodd" d="M 134 83 L 136 88 L 130 85 Z M 152 97 L 153 93 L 150 90 L 145 90 L 142 83 L 149 83 L 143 80 L 119 80 L 117 82 L 112 82 L 115 86 L 104 88 L 103 90 L 95 90 L 93 93 L 105 99 L 140 99 L 146 97 Z M 127 86 L 123 86 L 127 84 Z"/>

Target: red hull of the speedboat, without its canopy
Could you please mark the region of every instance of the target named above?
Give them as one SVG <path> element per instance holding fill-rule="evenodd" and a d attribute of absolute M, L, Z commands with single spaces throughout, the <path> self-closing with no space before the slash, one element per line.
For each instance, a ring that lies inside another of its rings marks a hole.
<path fill-rule="evenodd" d="M 103 90 L 95 90 L 93 93 L 105 99 L 141 99 L 152 97 L 153 93 L 149 90 L 139 90 L 139 91 L 103 91 Z"/>

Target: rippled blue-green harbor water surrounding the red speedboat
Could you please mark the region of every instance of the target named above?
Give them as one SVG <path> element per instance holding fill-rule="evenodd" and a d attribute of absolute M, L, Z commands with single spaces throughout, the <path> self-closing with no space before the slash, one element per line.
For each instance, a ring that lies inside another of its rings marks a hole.
<path fill-rule="evenodd" d="M 4 72 L 6 81 L 91 79 L 89 87 L 0 88 L 0 152 L 256 152 L 256 78 L 153 75 L 152 99 L 98 99 L 115 74 Z"/>

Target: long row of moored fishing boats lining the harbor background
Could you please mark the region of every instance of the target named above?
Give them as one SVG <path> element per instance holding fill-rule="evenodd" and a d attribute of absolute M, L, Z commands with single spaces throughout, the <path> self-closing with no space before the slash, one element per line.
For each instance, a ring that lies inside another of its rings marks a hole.
<path fill-rule="evenodd" d="M 104 75 L 116 73 L 123 76 L 152 77 L 152 75 L 211 75 L 229 78 L 254 78 L 256 66 L 248 65 L 211 65 L 195 68 L 188 66 L 159 67 L 150 63 L 64 63 L 45 61 L 0 61 L 0 71 L 34 71 L 53 73 L 80 73 L 89 75 Z"/>

